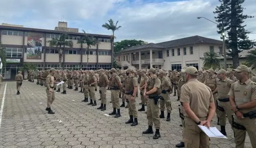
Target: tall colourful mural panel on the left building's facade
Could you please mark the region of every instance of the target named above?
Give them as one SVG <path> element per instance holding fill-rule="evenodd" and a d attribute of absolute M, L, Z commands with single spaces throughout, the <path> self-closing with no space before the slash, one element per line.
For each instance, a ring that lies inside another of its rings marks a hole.
<path fill-rule="evenodd" d="M 42 33 L 28 33 L 27 59 L 42 59 Z"/>

